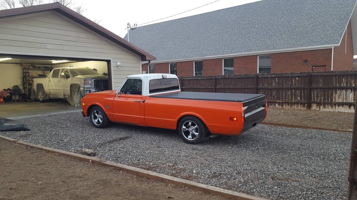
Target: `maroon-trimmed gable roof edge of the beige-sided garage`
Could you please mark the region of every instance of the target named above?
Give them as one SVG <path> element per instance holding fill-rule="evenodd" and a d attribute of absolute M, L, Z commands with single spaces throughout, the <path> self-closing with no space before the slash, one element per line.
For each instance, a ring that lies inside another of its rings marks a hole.
<path fill-rule="evenodd" d="M 15 8 L 15 9 L 0 10 L 0 18 L 12 17 L 12 16 L 18 16 L 18 15 L 26 15 L 26 14 L 42 12 L 42 11 L 49 11 L 49 10 L 54 10 L 56 12 L 59 12 L 60 14 L 89 28 L 90 30 L 98 33 L 99 35 L 119 44 L 120 46 L 128 49 L 129 51 L 132 51 L 132 52 L 138 54 L 139 56 L 141 56 L 142 61 L 155 60 L 155 57 L 152 56 L 150 53 L 147 53 L 146 51 L 142 50 L 141 48 L 139 48 L 139 47 L 135 46 L 134 44 L 124 40 L 123 38 L 115 35 L 115 33 L 112 33 L 111 31 L 107 30 L 106 28 L 98 25 L 97 23 L 91 21 L 90 19 L 87 19 L 86 17 L 78 14 L 77 12 L 60 4 L 59 2 L 54 2 L 51 4 L 36 5 L 36 6 L 19 7 L 19 8 Z"/>

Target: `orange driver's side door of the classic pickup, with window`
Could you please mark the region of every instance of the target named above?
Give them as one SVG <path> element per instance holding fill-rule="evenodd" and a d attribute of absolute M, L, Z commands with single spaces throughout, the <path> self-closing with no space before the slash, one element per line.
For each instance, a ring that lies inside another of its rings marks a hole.
<path fill-rule="evenodd" d="M 113 100 L 115 121 L 141 125 L 142 80 L 128 78 L 120 91 Z"/>

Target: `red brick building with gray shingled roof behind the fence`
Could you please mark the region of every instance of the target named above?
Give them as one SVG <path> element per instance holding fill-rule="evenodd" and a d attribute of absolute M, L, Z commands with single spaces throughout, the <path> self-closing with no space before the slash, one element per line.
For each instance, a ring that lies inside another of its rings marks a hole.
<path fill-rule="evenodd" d="M 355 6 L 356 0 L 262 0 L 137 27 L 129 39 L 157 58 L 142 63 L 143 73 L 352 70 Z"/>

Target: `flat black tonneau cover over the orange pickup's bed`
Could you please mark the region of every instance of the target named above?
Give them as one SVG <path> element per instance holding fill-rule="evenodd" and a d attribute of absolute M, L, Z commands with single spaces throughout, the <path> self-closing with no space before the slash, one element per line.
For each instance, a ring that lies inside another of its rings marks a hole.
<path fill-rule="evenodd" d="M 263 94 L 236 94 L 236 93 L 177 92 L 177 93 L 152 95 L 150 97 L 169 98 L 169 99 L 195 99 L 195 100 L 210 100 L 210 101 L 244 102 L 261 96 L 264 95 Z"/>

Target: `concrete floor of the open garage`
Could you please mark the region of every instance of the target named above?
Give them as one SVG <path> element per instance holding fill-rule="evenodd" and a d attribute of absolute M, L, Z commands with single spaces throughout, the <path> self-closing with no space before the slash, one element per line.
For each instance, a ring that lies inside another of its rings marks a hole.
<path fill-rule="evenodd" d="M 5 102 L 0 104 L 0 117 L 24 118 L 31 115 L 46 115 L 57 112 L 81 111 L 64 100 L 51 100 L 51 102 Z"/>

